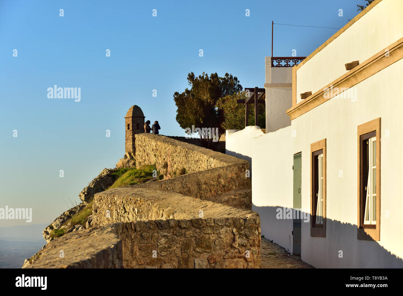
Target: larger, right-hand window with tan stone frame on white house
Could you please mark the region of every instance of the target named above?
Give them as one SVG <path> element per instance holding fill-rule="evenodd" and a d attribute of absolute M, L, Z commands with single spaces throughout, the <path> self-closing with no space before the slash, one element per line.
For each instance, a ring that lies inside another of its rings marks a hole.
<path fill-rule="evenodd" d="M 357 130 L 357 238 L 380 240 L 380 118 Z"/>

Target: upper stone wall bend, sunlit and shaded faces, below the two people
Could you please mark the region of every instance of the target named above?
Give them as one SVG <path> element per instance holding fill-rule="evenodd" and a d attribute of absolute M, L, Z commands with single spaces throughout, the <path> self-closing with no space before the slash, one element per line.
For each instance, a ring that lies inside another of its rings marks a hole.
<path fill-rule="evenodd" d="M 251 209 L 250 190 L 220 198 L 222 194 L 230 191 L 251 187 L 251 180 L 246 177 L 246 170 L 249 169 L 249 162 L 246 160 L 166 136 L 138 134 L 136 137 L 137 165 L 156 164 L 157 170 L 162 169 L 162 173 L 168 175 L 171 173 L 172 177 L 175 168 L 184 167 L 186 174 L 131 187 L 176 192 L 237 208 Z M 163 153 L 169 155 L 169 159 L 162 156 Z"/>

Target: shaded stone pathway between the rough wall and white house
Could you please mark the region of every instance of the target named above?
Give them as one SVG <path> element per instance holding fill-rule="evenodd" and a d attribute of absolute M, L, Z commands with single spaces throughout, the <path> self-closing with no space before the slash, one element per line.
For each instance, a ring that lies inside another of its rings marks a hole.
<path fill-rule="evenodd" d="M 286 249 L 267 238 L 260 243 L 260 268 L 314 268 L 301 260 L 301 257 L 290 255 Z"/>

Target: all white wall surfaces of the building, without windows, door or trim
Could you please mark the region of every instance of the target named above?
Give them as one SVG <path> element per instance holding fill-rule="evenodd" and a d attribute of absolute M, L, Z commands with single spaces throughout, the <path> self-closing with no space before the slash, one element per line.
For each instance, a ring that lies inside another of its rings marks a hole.
<path fill-rule="evenodd" d="M 309 90 L 314 93 L 343 75 L 345 63 L 364 62 L 403 37 L 402 19 L 403 1 L 383 0 L 377 4 L 301 66 L 297 71 L 297 100 L 300 93 Z M 268 82 L 268 78 L 272 81 L 274 69 L 268 69 L 267 65 L 266 59 L 266 83 L 274 83 Z M 276 83 L 284 83 L 287 77 L 286 72 L 279 72 Z M 402 81 L 403 60 L 399 60 L 353 86 L 356 100 L 342 99 L 342 93 L 275 132 L 259 134 L 256 127 L 248 127 L 226 135 L 228 154 L 231 151 L 231 155 L 251 158 L 252 209 L 260 214 L 266 238 L 292 252 L 293 221 L 277 220 L 276 208 L 293 206 L 293 154 L 298 152 L 302 152 L 301 206 L 310 208 L 310 145 L 326 138 L 326 237 L 311 237 L 310 224 L 302 223 L 301 259 L 314 267 L 403 268 Z M 266 101 L 266 111 L 272 103 Z M 378 117 L 381 117 L 380 240 L 358 240 L 357 126 Z M 270 120 L 266 119 L 266 125 Z M 341 171 L 343 177 L 339 177 Z M 340 251 L 343 258 L 339 257 Z"/>

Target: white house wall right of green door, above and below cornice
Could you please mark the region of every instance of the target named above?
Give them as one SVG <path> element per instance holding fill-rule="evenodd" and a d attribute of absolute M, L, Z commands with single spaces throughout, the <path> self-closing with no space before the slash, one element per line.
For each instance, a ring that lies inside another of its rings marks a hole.
<path fill-rule="evenodd" d="M 297 103 L 300 93 L 314 93 L 345 74 L 345 63 L 362 63 L 401 39 L 402 19 L 403 1 L 379 2 L 297 70 Z M 403 267 L 399 226 L 403 201 L 398 197 L 403 179 L 402 81 L 403 60 L 399 60 L 353 86 L 356 101 L 339 95 L 291 122 L 297 133 L 295 150 L 302 151 L 303 208 L 310 207 L 310 144 L 327 139 L 326 238 L 311 237 L 309 225 L 302 224 L 301 258 L 315 267 Z M 382 128 L 380 241 L 358 240 L 357 126 L 378 117 Z"/>

